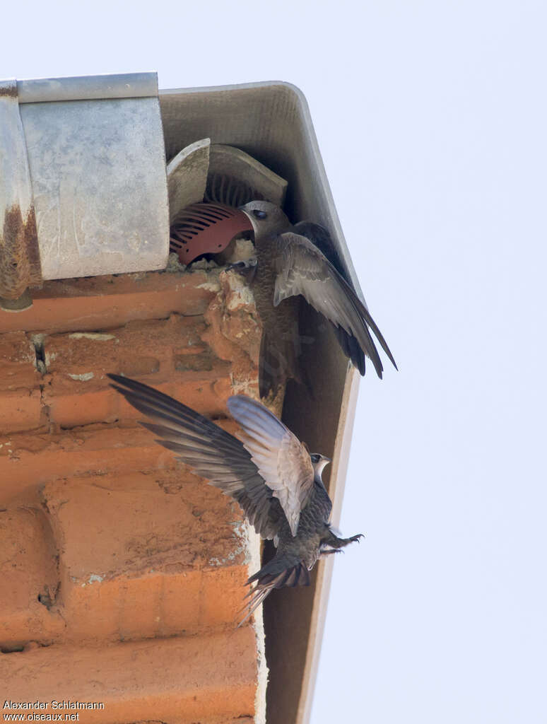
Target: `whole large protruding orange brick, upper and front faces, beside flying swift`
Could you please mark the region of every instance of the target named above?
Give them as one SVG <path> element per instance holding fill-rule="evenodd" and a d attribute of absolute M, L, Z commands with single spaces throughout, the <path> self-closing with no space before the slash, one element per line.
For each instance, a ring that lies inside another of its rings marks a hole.
<path fill-rule="evenodd" d="M 49 483 L 43 497 L 65 638 L 233 626 L 249 575 L 242 512 L 205 481 L 180 470 L 91 476 Z"/>

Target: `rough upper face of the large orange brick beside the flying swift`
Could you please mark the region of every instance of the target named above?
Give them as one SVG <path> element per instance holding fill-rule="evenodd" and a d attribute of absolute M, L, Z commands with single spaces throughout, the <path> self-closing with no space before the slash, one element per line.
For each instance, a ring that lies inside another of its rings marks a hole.
<path fill-rule="evenodd" d="M 242 560 L 239 506 L 184 470 L 60 479 L 42 494 L 62 563 L 80 583 Z"/>

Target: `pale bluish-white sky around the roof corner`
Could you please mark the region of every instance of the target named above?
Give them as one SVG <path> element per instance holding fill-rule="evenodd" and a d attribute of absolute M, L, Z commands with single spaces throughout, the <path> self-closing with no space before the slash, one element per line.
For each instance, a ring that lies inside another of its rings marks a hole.
<path fill-rule="evenodd" d="M 1 77 L 308 98 L 400 369 L 361 384 L 313 724 L 546 722 L 546 5 L 12 7 Z"/>

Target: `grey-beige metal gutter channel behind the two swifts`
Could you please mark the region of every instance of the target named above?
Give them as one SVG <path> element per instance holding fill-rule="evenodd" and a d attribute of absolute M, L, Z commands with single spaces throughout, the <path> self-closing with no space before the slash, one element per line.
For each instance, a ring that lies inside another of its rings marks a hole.
<path fill-rule="evenodd" d="M 326 226 L 360 295 L 323 161 L 302 92 L 283 82 L 160 90 L 166 158 L 198 138 L 237 146 L 289 181 L 285 209 L 293 221 Z M 347 363 L 334 334 L 307 306 L 304 351 L 316 397 L 289 384 L 283 419 L 310 448 L 333 458 L 329 493 L 338 521 L 344 493 L 359 375 Z M 313 348 L 313 350 L 312 350 Z M 317 391 L 321 390 L 321 395 Z M 266 550 L 266 555 L 268 551 Z M 268 724 L 309 721 L 332 563 L 315 567 L 309 589 L 273 592 L 264 606 Z"/>

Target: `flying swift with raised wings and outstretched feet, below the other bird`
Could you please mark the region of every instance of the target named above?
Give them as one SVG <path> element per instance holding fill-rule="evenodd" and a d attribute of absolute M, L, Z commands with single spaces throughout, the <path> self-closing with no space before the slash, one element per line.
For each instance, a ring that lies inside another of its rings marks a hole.
<path fill-rule="evenodd" d="M 242 432 L 234 437 L 208 418 L 134 379 L 109 374 L 114 390 L 150 418 L 141 422 L 160 445 L 201 477 L 237 500 L 276 555 L 250 576 L 243 623 L 268 594 L 283 586 L 308 586 L 319 557 L 338 552 L 361 534 L 339 538 L 328 522 L 332 503 L 321 480 L 330 462 L 307 447 L 284 424 L 245 395 L 228 399 Z"/>

